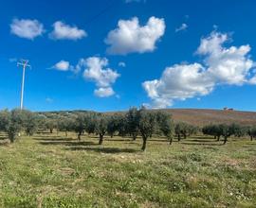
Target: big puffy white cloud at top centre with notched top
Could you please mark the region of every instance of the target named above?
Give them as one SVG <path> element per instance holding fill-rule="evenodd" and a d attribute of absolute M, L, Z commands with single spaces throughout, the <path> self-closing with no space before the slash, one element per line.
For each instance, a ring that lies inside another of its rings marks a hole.
<path fill-rule="evenodd" d="M 139 26 L 137 17 L 119 20 L 119 27 L 110 31 L 105 43 L 111 54 L 144 53 L 155 50 L 155 43 L 165 32 L 164 19 L 151 17 L 146 26 Z"/>

